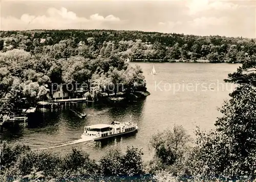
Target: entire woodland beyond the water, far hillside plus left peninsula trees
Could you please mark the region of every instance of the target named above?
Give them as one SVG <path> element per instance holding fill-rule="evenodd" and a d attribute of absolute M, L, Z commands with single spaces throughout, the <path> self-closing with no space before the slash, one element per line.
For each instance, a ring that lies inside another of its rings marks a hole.
<path fill-rule="evenodd" d="M 32 30 L 0 32 L 1 108 L 16 109 L 45 99 L 52 84 L 87 83 L 88 93 L 145 91 L 138 61 L 250 62 L 254 39 L 114 30 Z M 118 85 L 122 88 L 118 88 Z M 55 89 L 55 88 L 54 88 Z M 69 92 L 73 95 L 75 90 Z"/>

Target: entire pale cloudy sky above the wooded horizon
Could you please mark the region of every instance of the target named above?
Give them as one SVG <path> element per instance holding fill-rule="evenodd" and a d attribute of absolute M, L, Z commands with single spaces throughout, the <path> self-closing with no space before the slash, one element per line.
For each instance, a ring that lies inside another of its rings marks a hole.
<path fill-rule="evenodd" d="M 112 29 L 256 38 L 256 0 L 1 1 L 1 30 Z"/>

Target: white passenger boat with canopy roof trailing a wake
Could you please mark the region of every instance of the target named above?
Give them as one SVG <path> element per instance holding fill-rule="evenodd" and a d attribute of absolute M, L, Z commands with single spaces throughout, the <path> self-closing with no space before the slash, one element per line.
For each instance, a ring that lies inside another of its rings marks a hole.
<path fill-rule="evenodd" d="M 97 124 L 85 126 L 81 135 L 83 139 L 101 140 L 115 137 L 117 135 L 131 133 L 138 130 L 137 123 L 134 122 L 112 122 L 112 124 Z"/>

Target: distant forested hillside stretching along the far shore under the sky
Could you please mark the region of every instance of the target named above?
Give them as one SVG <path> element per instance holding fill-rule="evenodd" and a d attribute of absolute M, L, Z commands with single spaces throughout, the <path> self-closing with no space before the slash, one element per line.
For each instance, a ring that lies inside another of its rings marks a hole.
<path fill-rule="evenodd" d="M 244 62 L 254 59 L 256 53 L 255 40 L 242 37 L 113 30 L 8 31 L 1 32 L 1 37 L 6 48 L 0 42 L 0 50 L 20 48 L 36 54 L 57 49 L 52 55 L 55 58 L 78 54 L 86 58 L 118 55 L 131 60 Z M 80 41 L 84 44 L 77 48 Z"/>

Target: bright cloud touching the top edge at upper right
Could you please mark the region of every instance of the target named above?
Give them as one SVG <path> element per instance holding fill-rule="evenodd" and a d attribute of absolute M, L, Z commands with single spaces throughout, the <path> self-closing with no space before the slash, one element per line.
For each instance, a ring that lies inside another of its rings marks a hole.
<path fill-rule="evenodd" d="M 228 1 L 219 0 L 187 0 L 186 7 L 189 9 L 189 14 L 194 15 L 198 12 L 217 10 L 227 11 L 236 10 L 239 8 L 238 4 L 233 4 Z"/>

